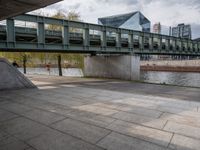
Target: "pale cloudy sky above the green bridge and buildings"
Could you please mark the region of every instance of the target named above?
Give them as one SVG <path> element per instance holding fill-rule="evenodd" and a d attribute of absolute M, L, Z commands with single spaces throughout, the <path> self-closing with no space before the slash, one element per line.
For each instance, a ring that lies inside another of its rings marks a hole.
<path fill-rule="evenodd" d="M 54 14 L 57 10 L 74 10 L 90 23 L 97 23 L 99 17 L 141 11 L 152 24 L 191 24 L 193 38 L 200 37 L 200 0 L 64 0 L 39 11 Z"/>

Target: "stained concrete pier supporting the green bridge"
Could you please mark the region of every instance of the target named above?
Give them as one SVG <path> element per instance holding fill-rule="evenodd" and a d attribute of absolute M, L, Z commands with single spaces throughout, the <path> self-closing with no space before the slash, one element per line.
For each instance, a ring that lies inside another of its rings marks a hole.
<path fill-rule="evenodd" d="M 86 56 L 84 75 L 86 77 L 139 80 L 140 56 Z"/>

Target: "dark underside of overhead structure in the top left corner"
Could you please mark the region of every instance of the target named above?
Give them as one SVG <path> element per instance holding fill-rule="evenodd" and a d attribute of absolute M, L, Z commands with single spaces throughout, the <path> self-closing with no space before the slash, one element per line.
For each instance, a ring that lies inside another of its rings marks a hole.
<path fill-rule="evenodd" d="M 61 0 L 0 0 L 0 20 L 26 13 Z"/>

